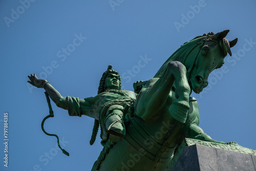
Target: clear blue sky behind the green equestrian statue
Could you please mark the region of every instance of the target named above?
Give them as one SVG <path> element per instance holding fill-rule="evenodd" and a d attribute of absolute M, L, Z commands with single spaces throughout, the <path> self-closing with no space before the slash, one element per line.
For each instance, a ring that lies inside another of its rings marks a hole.
<path fill-rule="evenodd" d="M 64 140 L 70 156 L 55 148 L 56 138 L 40 127 L 49 114 L 44 90 L 28 87 L 27 75 L 46 78 L 62 96 L 85 98 L 97 94 L 111 64 L 122 88 L 133 90 L 133 82 L 152 78 L 184 42 L 226 29 L 226 38 L 238 43 L 226 70 L 210 75 L 202 95 L 193 93 L 199 126 L 213 139 L 256 149 L 255 17 L 252 0 L 0 1 L 1 142 L 9 114 L 9 163 L 4 166 L 0 143 L 0 170 L 91 170 L 102 149 L 99 137 L 89 144 L 93 119 L 70 117 L 52 102 L 55 117 L 45 128 Z"/>

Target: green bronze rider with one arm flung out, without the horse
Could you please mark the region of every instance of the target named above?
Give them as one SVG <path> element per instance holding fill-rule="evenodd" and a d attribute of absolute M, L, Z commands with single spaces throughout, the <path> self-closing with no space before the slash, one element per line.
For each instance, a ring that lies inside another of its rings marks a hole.
<path fill-rule="evenodd" d="M 95 119 L 97 135 L 97 123 L 101 126 L 101 144 L 105 142 L 118 142 L 125 136 L 124 115 L 130 107 L 130 104 L 136 99 L 137 94 L 132 91 L 121 90 L 121 78 L 117 71 L 108 67 L 101 79 L 98 88 L 98 95 L 79 99 L 75 97 L 62 97 L 51 84 L 45 79 L 38 79 L 36 75 L 28 76 L 29 83 L 37 88 L 44 88 L 51 99 L 59 108 L 68 110 L 70 116 L 87 115 Z M 93 140 L 93 142 L 94 142 Z M 93 142 L 91 144 L 93 144 Z"/>

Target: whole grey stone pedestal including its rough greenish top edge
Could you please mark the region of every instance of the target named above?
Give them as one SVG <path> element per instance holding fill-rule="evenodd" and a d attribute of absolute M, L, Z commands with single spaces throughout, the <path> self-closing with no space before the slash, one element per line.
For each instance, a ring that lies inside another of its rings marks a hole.
<path fill-rule="evenodd" d="M 240 146 L 185 139 L 165 171 L 181 170 L 256 171 L 256 151 Z"/>

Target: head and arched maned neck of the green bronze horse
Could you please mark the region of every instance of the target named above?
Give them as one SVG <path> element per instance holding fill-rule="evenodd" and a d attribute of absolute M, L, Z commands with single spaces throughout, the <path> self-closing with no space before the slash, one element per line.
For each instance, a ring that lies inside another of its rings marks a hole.
<path fill-rule="evenodd" d="M 187 69 L 187 80 L 191 90 L 195 93 L 203 91 L 208 84 L 209 74 L 224 63 L 227 53 L 231 56 L 230 48 L 236 45 L 238 39 L 228 41 L 224 38 L 229 30 L 219 33 L 210 32 L 203 36 L 185 42 L 157 72 L 155 77 L 160 77 L 170 61 L 180 61 Z"/>

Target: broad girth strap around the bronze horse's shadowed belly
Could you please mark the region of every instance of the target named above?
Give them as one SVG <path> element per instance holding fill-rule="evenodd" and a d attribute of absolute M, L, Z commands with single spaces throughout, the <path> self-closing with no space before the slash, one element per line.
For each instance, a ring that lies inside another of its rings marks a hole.
<path fill-rule="evenodd" d="M 172 135 L 170 135 L 170 137 L 172 137 Z M 167 138 L 167 140 L 169 138 Z M 159 144 L 143 130 L 136 119 L 133 119 L 131 125 L 127 127 L 125 139 L 138 151 L 144 149 L 144 155 L 155 162 L 169 162 L 176 148 L 176 146 L 168 147 L 166 141 L 164 144 Z"/>

